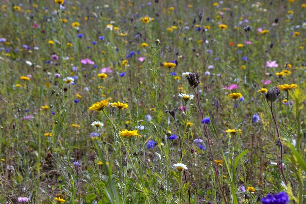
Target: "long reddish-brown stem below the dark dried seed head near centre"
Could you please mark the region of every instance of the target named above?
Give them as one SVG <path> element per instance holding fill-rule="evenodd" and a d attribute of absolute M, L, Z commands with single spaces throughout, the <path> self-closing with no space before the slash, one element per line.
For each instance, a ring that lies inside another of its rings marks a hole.
<path fill-rule="evenodd" d="M 216 163 L 215 163 L 215 158 L 214 158 L 213 150 L 212 150 L 211 145 L 210 145 L 208 130 L 207 130 L 205 122 L 204 122 L 203 111 L 202 111 L 202 108 L 201 108 L 201 105 L 200 105 L 200 100 L 199 100 L 199 97 L 198 97 L 198 86 L 197 86 L 197 91 L 196 91 L 195 88 L 193 88 L 193 90 L 194 90 L 194 92 L 195 92 L 195 94 L 197 96 L 197 107 L 198 107 L 198 109 L 200 111 L 200 115 L 201 115 L 201 118 L 203 120 L 205 136 L 206 136 L 206 139 L 207 139 L 207 143 L 208 143 L 208 147 L 209 147 L 209 152 L 210 152 L 210 155 L 212 157 L 212 163 L 213 163 L 213 166 L 214 166 L 214 169 L 215 169 L 215 174 L 216 174 L 216 177 L 217 177 L 217 180 L 218 180 L 219 188 L 220 188 L 220 191 L 221 191 L 221 194 L 222 194 L 222 197 L 223 197 L 223 200 L 224 200 L 225 204 L 228 204 L 227 201 L 226 201 L 225 194 L 223 192 L 222 185 L 220 183 L 220 179 L 219 179 L 219 175 L 218 175 L 217 166 L 216 166 Z"/>

